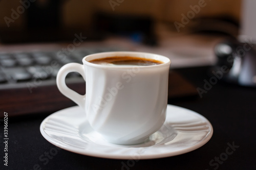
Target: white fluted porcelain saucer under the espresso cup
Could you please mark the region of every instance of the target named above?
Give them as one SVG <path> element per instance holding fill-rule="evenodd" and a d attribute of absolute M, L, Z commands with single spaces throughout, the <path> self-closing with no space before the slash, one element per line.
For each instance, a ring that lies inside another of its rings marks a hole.
<path fill-rule="evenodd" d="M 42 136 L 61 149 L 112 159 L 152 159 L 184 154 L 210 140 L 213 129 L 202 115 L 168 105 L 162 128 L 145 143 L 117 145 L 104 141 L 78 106 L 49 115 L 40 125 Z"/>

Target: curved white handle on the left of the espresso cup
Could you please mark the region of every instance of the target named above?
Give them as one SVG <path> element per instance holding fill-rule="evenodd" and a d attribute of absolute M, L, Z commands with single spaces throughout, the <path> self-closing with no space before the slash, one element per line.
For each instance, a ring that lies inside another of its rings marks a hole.
<path fill-rule="evenodd" d="M 81 95 L 77 93 L 76 91 L 70 89 L 65 82 L 66 76 L 69 74 L 69 72 L 78 72 L 84 79 L 86 80 L 86 74 L 83 68 L 82 64 L 78 63 L 69 63 L 66 65 L 63 65 L 57 74 L 57 87 L 59 91 L 65 95 L 67 98 L 74 101 L 78 106 L 85 109 L 85 102 L 86 102 L 86 94 Z"/>

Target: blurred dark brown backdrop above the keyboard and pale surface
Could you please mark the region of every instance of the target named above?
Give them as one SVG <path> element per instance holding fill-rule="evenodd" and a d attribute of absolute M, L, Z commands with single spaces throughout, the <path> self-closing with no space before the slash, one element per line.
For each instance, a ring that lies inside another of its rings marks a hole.
<path fill-rule="evenodd" d="M 89 40 L 106 33 L 146 34 L 146 43 L 155 44 L 164 31 L 237 36 L 241 0 L 2 0 L 0 16 L 3 43 L 63 41 L 82 32 Z"/>

